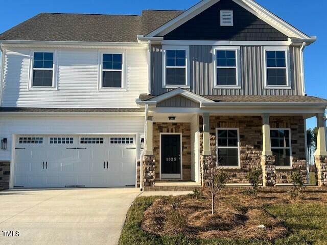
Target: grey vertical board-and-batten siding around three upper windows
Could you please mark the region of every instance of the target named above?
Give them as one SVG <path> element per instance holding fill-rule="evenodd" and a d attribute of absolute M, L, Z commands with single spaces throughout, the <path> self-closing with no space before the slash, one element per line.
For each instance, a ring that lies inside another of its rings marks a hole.
<path fill-rule="evenodd" d="M 215 89 L 213 48 L 190 46 L 190 91 L 199 95 L 302 95 L 300 48 L 290 47 L 291 89 L 264 89 L 262 46 L 241 46 L 241 89 Z M 162 88 L 162 46 L 153 45 L 151 52 L 151 94 L 171 89 Z"/>

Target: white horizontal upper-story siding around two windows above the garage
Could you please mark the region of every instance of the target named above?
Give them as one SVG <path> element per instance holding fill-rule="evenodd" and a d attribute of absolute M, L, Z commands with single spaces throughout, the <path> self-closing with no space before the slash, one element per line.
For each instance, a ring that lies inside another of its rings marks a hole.
<path fill-rule="evenodd" d="M 125 52 L 126 89 L 98 90 L 98 49 L 75 48 L 58 49 L 58 89 L 40 91 L 28 90 L 30 49 L 7 49 L 1 106 L 137 108 L 135 99 L 148 92 L 147 50 Z"/>

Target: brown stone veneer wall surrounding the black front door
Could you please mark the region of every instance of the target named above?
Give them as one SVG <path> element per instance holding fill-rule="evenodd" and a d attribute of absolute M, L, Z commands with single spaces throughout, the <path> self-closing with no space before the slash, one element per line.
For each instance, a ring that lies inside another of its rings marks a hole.
<path fill-rule="evenodd" d="M 155 155 L 155 176 L 159 179 L 160 133 L 182 133 L 183 180 L 191 180 L 191 124 L 153 123 L 153 152 Z"/>

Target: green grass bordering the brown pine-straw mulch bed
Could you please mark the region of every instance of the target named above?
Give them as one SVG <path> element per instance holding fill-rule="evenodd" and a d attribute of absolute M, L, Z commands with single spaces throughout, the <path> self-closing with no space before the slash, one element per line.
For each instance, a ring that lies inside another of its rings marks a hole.
<path fill-rule="evenodd" d="M 319 195 L 317 193 L 317 195 Z M 327 204 L 274 204 L 265 206 L 284 221 L 290 233 L 274 241 L 240 239 L 193 239 L 183 236 L 156 236 L 141 229 L 144 211 L 158 197 L 139 197 L 127 213 L 119 245 L 326 245 Z"/>

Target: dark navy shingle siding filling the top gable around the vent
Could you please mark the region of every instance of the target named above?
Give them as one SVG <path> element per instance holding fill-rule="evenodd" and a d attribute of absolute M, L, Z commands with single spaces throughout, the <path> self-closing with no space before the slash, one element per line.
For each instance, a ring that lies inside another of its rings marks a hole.
<path fill-rule="evenodd" d="M 220 10 L 233 11 L 233 26 L 220 26 Z M 288 37 L 232 0 L 220 0 L 164 39 L 285 41 Z"/>

